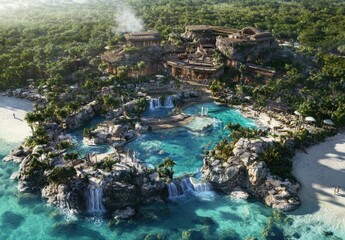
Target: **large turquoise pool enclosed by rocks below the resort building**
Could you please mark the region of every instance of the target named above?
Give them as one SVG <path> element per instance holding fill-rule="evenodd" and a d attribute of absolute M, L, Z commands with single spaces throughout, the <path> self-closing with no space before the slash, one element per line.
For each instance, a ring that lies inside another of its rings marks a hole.
<path fill-rule="evenodd" d="M 205 150 L 229 134 L 224 129 L 226 123 L 239 123 L 244 127 L 255 127 L 255 122 L 243 117 L 237 110 L 214 103 L 193 105 L 185 110 L 186 114 L 197 115 L 201 107 L 208 108 L 208 117 L 215 118 L 215 124 L 202 133 L 189 131 L 186 128 L 174 128 L 166 131 L 144 134 L 127 144 L 127 147 L 138 153 L 138 158 L 157 166 L 164 158 L 170 157 L 175 162 L 175 175 L 197 173 L 203 164 Z"/>

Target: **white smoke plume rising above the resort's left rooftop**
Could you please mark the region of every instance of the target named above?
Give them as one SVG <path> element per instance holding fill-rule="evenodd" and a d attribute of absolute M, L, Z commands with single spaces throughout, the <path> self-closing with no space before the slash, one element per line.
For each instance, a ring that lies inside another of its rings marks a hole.
<path fill-rule="evenodd" d="M 138 18 L 135 11 L 128 5 L 122 4 L 115 15 L 116 32 L 140 32 L 144 30 L 143 20 Z"/>

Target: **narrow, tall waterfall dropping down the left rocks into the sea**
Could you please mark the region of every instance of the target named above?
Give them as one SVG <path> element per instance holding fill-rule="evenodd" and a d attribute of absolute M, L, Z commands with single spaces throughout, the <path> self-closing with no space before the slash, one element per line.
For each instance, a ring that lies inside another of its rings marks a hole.
<path fill-rule="evenodd" d="M 105 212 L 102 204 L 103 188 L 90 184 L 87 189 L 87 211 L 92 215 L 100 215 Z"/>

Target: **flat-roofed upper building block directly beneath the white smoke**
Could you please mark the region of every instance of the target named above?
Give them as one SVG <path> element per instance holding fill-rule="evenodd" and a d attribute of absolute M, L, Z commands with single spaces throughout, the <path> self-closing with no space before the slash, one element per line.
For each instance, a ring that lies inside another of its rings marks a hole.
<path fill-rule="evenodd" d="M 133 47 L 160 46 L 162 36 L 157 31 L 129 32 L 125 34 L 128 45 Z"/>

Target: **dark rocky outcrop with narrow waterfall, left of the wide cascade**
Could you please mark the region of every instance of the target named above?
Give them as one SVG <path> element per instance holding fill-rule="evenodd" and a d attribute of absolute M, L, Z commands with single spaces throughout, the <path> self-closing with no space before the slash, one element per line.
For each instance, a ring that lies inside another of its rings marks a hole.
<path fill-rule="evenodd" d="M 79 184 L 76 189 L 84 191 L 83 194 L 79 194 L 84 197 L 84 206 L 87 208 L 92 206 L 92 210 L 84 210 L 92 213 L 95 209 L 104 208 L 103 210 L 108 213 L 115 213 L 117 210 L 122 211 L 127 207 L 135 209 L 142 203 L 164 201 L 166 187 L 164 182 L 158 178 L 158 174 L 148 170 L 146 165 L 135 157 L 126 155 L 121 154 L 121 160 L 116 160 L 111 165 L 108 164 L 106 168 L 103 167 L 103 164 L 106 164 L 104 161 L 109 161 L 109 158 L 118 158 L 118 155 L 110 154 L 108 158 L 100 159 L 97 170 L 85 162 L 75 166 L 77 179 L 84 179 L 87 185 L 85 187 L 85 184 Z M 90 191 L 90 186 L 92 189 L 101 188 L 102 191 L 97 193 Z M 55 203 L 58 202 L 55 201 Z M 97 207 L 101 205 L 102 207 Z"/>

